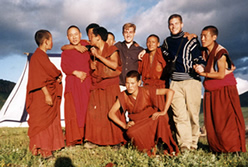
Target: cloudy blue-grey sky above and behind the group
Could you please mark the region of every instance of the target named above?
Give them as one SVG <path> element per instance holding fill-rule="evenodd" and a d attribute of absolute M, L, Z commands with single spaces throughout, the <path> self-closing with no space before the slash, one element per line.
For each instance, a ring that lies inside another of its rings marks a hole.
<path fill-rule="evenodd" d="M 0 79 L 17 82 L 26 63 L 24 52 L 37 48 L 34 34 L 47 29 L 53 35 L 53 49 L 61 53 L 68 43 L 66 30 L 77 25 L 87 39 L 85 28 L 98 23 L 123 41 L 122 26 L 136 24 L 134 40 L 146 47 L 146 38 L 157 34 L 160 42 L 170 35 L 168 17 L 183 17 L 185 32 L 200 39 L 203 27 L 219 29 L 217 42 L 230 53 L 236 78 L 248 80 L 248 1 L 247 0 L 1 0 Z"/>

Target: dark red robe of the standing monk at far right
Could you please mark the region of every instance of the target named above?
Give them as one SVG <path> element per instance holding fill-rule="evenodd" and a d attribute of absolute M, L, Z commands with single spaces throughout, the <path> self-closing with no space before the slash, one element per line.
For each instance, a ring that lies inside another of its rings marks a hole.
<path fill-rule="evenodd" d="M 227 50 L 217 43 L 209 55 L 203 52 L 203 56 L 207 58 L 205 72 L 217 71 L 217 61 L 222 56 L 226 56 L 228 67 L 233 65 Z M 204 123 L 210 149 L 246 152 L 245 123 L 233 73 L 224 79 L 205 78 L 204 87 Z"/>

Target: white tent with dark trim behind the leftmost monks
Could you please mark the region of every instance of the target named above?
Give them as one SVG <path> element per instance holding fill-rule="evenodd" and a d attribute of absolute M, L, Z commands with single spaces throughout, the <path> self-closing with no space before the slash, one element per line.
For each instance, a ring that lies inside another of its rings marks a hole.
<path fill-rule="evenodd" d="M 32 54 L 27 54 L 27 63 L 24 67 L 21 77 L 4 103 L 0 111 L 0 127 L 28 127 L 28 113 L 25 109 L 26 86 L 28 80 L 28 65 Z M 61 62 L 60 54 L 48 54 L 50 61 L 59 69 Z M 63 87 L 65 83 L 65 74 L 62 79 Z M 64 98 L 61 106 L 61 125 L 64 127 Z"/>

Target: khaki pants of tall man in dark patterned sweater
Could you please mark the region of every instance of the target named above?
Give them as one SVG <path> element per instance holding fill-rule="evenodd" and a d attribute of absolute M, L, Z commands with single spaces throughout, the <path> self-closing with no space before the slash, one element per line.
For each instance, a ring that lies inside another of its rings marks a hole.
<path fill-rule="evenodd" d="M 179 147 L 197 148 L 201 87 L 201 82 L 194 79 L 171 81 L 170 88 L 175 91 L 171 106 Z"/>

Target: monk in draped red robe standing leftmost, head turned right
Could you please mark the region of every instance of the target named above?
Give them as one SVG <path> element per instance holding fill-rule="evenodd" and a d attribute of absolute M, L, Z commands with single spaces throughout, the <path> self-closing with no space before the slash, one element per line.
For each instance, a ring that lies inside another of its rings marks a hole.
<path fill-rule="evenodd" d="M 61 72 L 50 62 L 46 51 L 53 46 L 52 35 L 47 30 L 35 33 L 38 48 L 30 58 L 26 95 L 29 114 L 29 149 L 43 158 L 64 147 L 60 124 L 62 95 Z"/>

